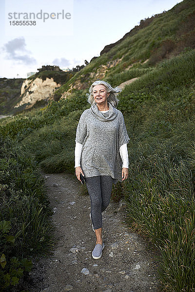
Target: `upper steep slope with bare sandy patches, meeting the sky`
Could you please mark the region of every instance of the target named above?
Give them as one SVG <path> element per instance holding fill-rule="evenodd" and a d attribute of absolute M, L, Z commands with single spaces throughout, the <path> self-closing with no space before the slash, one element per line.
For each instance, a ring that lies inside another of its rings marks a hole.
<path fill-rule="evenodd" d="M 195 2 L 185 0 L 166 13 L 140 21 L 140 25 L 115 44 L 106 46 L 100 57 L 65 83 L 56 95 L 88 89 L 96 79 L 113 86 L 152 70 L 163 59 L 195 48 Z M 148 70 L 147 70 L 148 69 Z"/>

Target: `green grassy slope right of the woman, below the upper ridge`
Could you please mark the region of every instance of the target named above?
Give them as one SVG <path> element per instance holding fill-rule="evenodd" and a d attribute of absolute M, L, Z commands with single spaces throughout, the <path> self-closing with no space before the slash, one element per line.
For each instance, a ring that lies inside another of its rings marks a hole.
<path fill-rule="evenodd" d="M 128 86 L 131 100 L 124 91 L 120 95 L 119 109 L 125 112 L 131 137 L 130 175 L 124 191 L 126 219 L 160 249 L 162 290 L 171 292 L 195 290 L 193 60 L 194 51 L 167 60 L 154 69 L 153 83 L 148 73 Z M 173 74 L 168 78 L 169 69 Z M 142 78 L 148 80 L 145 87 Z"/>

